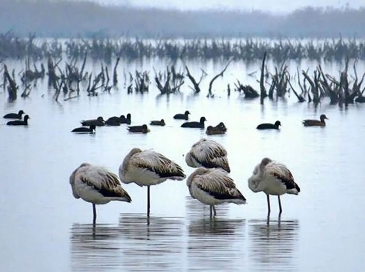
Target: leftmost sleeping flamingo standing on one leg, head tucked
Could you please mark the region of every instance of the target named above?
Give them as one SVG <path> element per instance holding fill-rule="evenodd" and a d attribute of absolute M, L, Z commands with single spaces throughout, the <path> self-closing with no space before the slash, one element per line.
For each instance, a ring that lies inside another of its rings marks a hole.
<path fill-rule="evenodd" d="M 118 176 L 102 166 L 82 163 L 70 175 L 74 198 L 92 203 L 93 224 L 96 223 L 95 204 L 110 201 L 131 202 L 132 199 L 120 184 Z"/>

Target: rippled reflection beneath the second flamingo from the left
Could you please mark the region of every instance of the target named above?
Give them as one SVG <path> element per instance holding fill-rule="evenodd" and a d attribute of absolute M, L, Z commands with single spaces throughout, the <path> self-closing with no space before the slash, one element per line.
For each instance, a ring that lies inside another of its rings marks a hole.
<path fill-rule="evenodd" d="M 182 218 L 121 214 L 120 235 L 124 238 L 123 271 L 178 271 L 183 267 L 184 222 Z"/>

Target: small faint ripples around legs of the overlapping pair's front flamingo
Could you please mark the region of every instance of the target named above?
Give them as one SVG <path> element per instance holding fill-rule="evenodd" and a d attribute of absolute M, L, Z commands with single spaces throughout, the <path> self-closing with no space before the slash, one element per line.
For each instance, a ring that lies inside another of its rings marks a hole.
<path fill-rule="evenodd" d="M 196 218 L 210 218 L 210 206 L 193 199 L 190 195 L 185 197 L 185 208 L 187 217 L 190 220 Z M 216 205 L 215 207 L 219 218 L 227 217 L 229 211 L 229 204 L 224 203 Z"/>

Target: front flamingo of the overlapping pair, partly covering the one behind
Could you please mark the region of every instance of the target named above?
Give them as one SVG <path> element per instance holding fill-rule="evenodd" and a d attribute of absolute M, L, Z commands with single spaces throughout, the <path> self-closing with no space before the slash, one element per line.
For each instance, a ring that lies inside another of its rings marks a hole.
<path fill-rule="evenodd" d="M 246 198 L 236 188 L 233 179 L 222 168 L 199 167 L 188 177 L 186 185 L 192 198 L 210 205 L 210 217 L 212 210 L 217 214 L 215 205 L 222 203 L 246 204 Z"/>

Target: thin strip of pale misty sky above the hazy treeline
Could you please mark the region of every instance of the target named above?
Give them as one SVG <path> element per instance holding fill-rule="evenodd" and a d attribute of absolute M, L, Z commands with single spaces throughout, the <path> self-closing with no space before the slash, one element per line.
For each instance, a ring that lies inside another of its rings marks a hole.
<path fill-rule="evenodd" d="M 107 4 L 131 4 L 145 7 L 167 7 L 178 9 L 200 9 L 200 8 L 239 8 L 239 9 L 260 9 L 270 12 L 290 12 L 303 6 L 312 7 L 342 7 L 349 3 L 350 7 L 358 8 L 365 5 L 364 0 L 94 0 Z"/>

